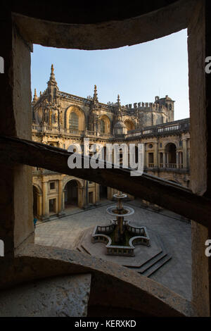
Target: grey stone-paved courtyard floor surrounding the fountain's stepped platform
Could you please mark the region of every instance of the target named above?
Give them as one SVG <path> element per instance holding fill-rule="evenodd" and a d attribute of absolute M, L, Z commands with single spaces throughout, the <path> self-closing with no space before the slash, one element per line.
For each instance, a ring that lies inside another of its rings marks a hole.
<path fill-rule="evenodd" d="M 75 247 L 77 237 L 82 230 L 94 225 L 109 224 L 106 213 L 110 201 L 102 206 L 83 211 L 74 208 L 71 215 L 64 218 L 38 223 L 35 231 L 35 243 L 46 246 L 58 246 L 65 249 Z M 132 224 L 145 225 L 158 233 L 172 259 L 151 275 L 151 279 L 169 287 L 186 299 L 191 300 L 191 224 L 180 220 L 180 216 L 169 211 L 156 212 L 141 206 L 139 201 L 129 201 L 134 215 L 128 219 Z"/>

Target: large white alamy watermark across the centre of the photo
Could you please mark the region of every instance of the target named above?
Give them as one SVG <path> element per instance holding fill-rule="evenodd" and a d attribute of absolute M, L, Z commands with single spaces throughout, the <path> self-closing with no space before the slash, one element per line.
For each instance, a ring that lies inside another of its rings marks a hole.
<path fill-rule="evenodd" d="M 84 138 L 83 151 L 80 144 L 71 144 L 68 151 L 72 153 L 68 158 L 70 169 L 129 168 L 131 176 L 143 175 L 143 144 L 92 144 L 89 147 L 89 138 Z"/>

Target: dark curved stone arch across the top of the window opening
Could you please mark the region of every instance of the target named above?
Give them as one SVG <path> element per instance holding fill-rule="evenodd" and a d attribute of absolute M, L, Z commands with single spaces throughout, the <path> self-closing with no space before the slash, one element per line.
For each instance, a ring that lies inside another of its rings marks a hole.
<path fill-rule="evenodd" d="M 15 15 L 15 23 L 25 38 L 34 44 L 69 49 L 109 49 L 148 42 L 184 29 L 194 2 L 196 0 L 181 0 L 146 15 L 136 14 L 136 17 L 125 20 L 96 24 L 49 22 L 47 18 L 39 20 L 22 15 Z"/>

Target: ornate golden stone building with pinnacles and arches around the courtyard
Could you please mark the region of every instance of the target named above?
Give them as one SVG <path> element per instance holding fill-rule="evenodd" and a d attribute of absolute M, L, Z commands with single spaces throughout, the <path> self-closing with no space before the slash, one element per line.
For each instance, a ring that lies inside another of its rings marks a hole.
<path fill-rule="evenodd" d="M 174 101 L 155 96 L 151 103 L 122 106 L 60 92 L 51 65 L 46 90 L 32 101 L 32 139 L 68 149 L 70 144 L 144 144 L 144 171 L 189 187 L 189 119 L 174 121 Z M 89 208 L 112 199 L 115 189 L 77 177 L 34 168 L 34 215 L 40 220 L 62 217 L 72 208 Z M 130 196 L 133 199 L 132 196 Z"/>

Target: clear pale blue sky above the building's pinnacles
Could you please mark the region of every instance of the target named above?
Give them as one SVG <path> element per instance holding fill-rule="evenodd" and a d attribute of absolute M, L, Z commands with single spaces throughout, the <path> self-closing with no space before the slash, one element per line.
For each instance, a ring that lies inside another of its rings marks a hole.
<path fill-rule="evenodd" d="M 122 105 L 153 102 L 165 95 L 175 100 L 174 119 L 189 117 L 187 32 L 119 49 L 83 51 L 34 45 L 32 95 L 34 88 L 46 89 L 51 63 L 60 91 Z"/>

